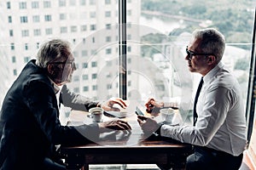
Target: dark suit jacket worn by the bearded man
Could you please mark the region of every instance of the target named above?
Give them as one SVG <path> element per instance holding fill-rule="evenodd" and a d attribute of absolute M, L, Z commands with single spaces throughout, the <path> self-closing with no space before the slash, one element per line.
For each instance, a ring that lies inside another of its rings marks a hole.
<path fill-rule="evenodd" d="M 88 111 L 96 102 L 61 90 L 62 102 Z M 54 88 L 32 59 L 9 88 L 0 112 L 0 169 L 40 169 L 54 159 L 55 144 L 83 144 L 98 139 L 98 125 L 61 126 Z M 86 138 L 84 138 L 86 137 Z"/>

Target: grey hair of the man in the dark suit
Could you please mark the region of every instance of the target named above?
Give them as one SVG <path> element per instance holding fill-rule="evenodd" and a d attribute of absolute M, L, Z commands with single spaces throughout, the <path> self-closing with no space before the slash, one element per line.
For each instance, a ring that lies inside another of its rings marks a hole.
<path fill-rule="evenodd" d="M 36 65 L 46 68 L 49 62 L 61 58 L 67 58 L 71 54 L 70 43 L 61 39 L 53 39 L 44 44 L 38 50 Z"/>

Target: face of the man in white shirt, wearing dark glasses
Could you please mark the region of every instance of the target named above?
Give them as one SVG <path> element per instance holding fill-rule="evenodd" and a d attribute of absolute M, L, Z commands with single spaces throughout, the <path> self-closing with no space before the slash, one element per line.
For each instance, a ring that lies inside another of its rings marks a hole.
<path fill-rule="evenodd" d="M 189 43 L 185 59 L 188 60 L 189 71 L 205 75 L 207 71 L 207 58 L 205 55 L 202 55 L 201 48 L 199 48 L 200 43 L 200 39 L 194 39 Z"/>

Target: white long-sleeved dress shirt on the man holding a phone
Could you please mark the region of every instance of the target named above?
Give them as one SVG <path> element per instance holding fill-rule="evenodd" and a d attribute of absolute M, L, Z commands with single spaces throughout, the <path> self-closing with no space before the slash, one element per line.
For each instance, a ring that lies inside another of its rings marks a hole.
<path fill-rule="evenodd" d="M 206 146 L 238 156 L 247 144 L 240 86 L 221 62 L 203 80 L 196 105 L 198 119 L 195 127 L 163 125 L 160 133 L 183 143 Z"/>

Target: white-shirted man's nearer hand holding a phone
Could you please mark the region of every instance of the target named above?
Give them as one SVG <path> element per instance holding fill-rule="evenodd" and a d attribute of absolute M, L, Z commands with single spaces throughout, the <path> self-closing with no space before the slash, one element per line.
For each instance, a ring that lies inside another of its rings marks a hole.
<path fill-rule="evenodd" d="M 146 116 L 137 116 L 137 122 L 142 127 L 143 133 L 145 134 L 154 133 L 160 127 L 154 119 Z"/>

